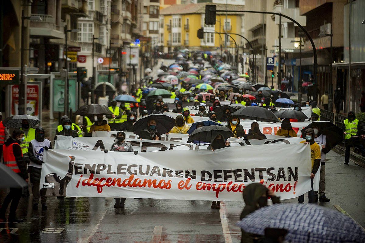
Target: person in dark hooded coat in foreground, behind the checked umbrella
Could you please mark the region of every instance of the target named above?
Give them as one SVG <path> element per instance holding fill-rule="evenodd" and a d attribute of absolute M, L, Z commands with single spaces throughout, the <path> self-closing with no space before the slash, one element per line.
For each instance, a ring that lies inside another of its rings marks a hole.
<path fill-rule="evenodd" d="M 245 208 L 243 208 L 240 220 L 246 217 L 248 214 L 254 212 L 255 210 L 265 207 L 268 205 L 268 197 L 271 198 L 273 204 L 280 203 L 280 198 L 274 195 L 271 189 L 268 189 L 260 183 L 251 183 L 246 186 L 243 190 L 243 201 L 245 201 Z M 258 242 L 263 236 L 254 235 L 242 231 L 241 243 L 254 243 Z"/>

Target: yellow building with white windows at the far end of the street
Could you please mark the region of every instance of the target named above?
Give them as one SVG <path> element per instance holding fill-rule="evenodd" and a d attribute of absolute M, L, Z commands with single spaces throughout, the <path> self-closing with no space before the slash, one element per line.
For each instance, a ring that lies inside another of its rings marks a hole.
<path fill-rule="evenodd" d="M 204 39 L 197 38 L 197 30 L 204 27 L 207 32 L 227 32 L 242 34 L 242 19 L 240 13 L 217 12 L 215 25 L 205 24 L 205 5 L 197 3 L 186 5 L 171 5 L 160 11 L 161 29 L 160 38 L 163 39 L 164 51 L 170 52 L 175 48 L 188 48 L 189 50 L 219 50 L 234 46 L 234 42 L 224 34 L 204 33 Z M 226 10 L 226 4 L 215 4 L 217 10 Z M 244 10 L 244 5 L 228 4 L 229 10 Z M 241 37 L 232 35 L 234 40 L 241 43 Z"/>

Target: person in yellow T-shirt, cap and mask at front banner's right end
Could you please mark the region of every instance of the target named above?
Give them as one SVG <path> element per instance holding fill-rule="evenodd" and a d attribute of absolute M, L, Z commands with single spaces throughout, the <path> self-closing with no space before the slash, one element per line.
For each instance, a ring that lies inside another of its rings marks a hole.
<path fill-rule="evenodd" d="M 307 128 L 305 132 L 306 141 L 301 141 L 300 143 L 310 144 L 311 146 L 311 158 L 312 158 L 312 173 L 311 173 L 311 180 L 312 180 L 312 190 L 308 191 L 308 203 L 316 203 L 318 201 L 318 197 L 316 192 L 313 190 L 313 178 L 318 171 L 320 166 L 321 154 L 319 145 L 314 141 L 314 129 Z M 304 202 L 304 194 L 298 197 L 298 202 Z"/>

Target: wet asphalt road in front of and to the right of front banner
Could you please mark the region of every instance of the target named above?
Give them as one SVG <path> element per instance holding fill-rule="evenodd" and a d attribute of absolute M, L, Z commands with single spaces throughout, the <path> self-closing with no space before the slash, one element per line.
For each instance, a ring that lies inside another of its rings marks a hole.
<path fill-rule="evenodd" d="M 335 152 L 327 155 L 327 197 L 321 203 L 339 205 L 365 226 L 365 169 Z M 1 191 L 0 201 L 5 197 Z M 307 198 L 306 198 L 307 200 Z M 296 198 L 283 203 L 296 203 Z M 239 242 L 235 225 L 243 202 L 223 202 L 220 210 L 209 201 L 127 198 L 124 209 L 113 198 L 50 197 L 48 209 L 33 210 L 31 197 L 22 198 L 18 217 L 25 223 L 1 223 L 0 242 Z"/>

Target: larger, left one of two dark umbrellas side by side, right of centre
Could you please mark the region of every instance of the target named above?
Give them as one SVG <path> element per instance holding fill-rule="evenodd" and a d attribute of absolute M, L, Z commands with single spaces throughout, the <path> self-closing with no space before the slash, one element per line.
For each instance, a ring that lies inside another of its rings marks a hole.
<path fill-rule="evenodd" d="M 231 115 L 239 118 L 252 119 L 256 121 L 278 122 L 277 116 L 272 111 L 261 106 L 248 106 L 235 111 Z"/>

